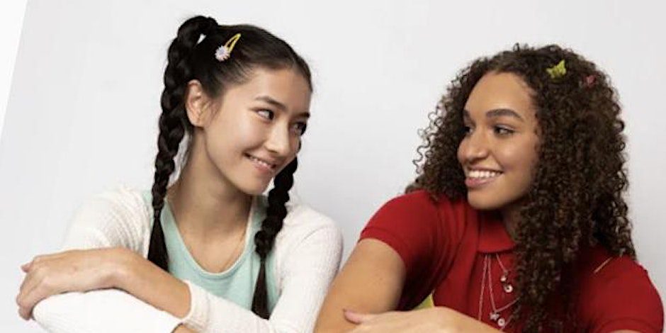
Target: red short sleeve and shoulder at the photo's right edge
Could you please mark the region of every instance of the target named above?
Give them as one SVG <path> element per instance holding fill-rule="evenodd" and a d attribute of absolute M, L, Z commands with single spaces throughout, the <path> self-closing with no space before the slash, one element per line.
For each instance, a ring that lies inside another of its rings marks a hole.
<path fill-rule="evenodd" d="M 585 252 L 578 272 L 585 321 L 592 327 L 661 332 L 663 305 L 648 271 L 630 257 L 613 256 L 601 246 Z"/>

